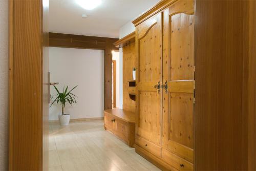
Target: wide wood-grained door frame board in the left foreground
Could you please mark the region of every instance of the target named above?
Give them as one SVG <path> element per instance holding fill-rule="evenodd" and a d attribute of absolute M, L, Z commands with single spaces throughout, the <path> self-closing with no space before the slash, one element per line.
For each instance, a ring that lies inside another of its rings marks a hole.
<path fill-rule="evenodd" d="M 10 1 L 9 170 L 42 170 L 42 1 Z"/>

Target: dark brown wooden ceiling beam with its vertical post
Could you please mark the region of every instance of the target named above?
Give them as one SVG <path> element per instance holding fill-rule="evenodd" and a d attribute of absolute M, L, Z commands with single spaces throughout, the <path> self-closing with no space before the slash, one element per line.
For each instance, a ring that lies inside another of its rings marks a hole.
<path fill-rule="evenodd" d="M 104 50 L 104 109 L 112 109 L 112 51 L 118 38 L 49 33 L 49 46 Z"/>

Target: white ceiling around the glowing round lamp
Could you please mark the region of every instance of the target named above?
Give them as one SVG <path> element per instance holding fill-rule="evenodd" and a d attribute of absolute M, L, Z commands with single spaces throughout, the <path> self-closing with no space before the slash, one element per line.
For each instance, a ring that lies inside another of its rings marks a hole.
<path fill-rule="evenodd" d="M 120 27 L 157 2 L 159 0 L 102 0 L 99 7 L 85 10 L 75 0 L 50 0 L 49 31 L 118 38 Z M 88 17 L 82 18 L 82 14 Z"/>

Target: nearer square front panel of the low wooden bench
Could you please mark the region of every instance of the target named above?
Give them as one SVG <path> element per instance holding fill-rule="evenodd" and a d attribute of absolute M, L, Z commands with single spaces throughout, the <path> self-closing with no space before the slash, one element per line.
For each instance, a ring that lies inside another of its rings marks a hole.
<path fill-rule="evenodd" d="M 129 138 L 129 126 L 128 123 L 117 119 L 116 120 L 116 135 L 123 139 L 125 142 L 128 142 L 128 138 Z"/>

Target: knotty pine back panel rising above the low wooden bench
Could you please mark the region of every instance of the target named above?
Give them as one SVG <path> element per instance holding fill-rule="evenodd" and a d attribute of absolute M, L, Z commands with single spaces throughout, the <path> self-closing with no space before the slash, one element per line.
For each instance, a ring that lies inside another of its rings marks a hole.
<path fill-rule="evenodd" d="M 129 97 L 129 80 L 133 80 L 136 67 L 135 42 L 123 47 L 123 110 L 135 112 L 135 101 Z"/>

